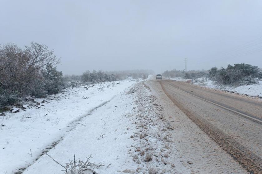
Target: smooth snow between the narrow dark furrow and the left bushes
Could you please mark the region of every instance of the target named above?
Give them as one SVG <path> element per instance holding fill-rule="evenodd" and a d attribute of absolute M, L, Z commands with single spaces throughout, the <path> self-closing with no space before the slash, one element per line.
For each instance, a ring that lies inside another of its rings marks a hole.
<path fill-rule="evenodd" d="M 0 117 L 0 173 L 22 171 L 62 140 L 88 111 L 124 91 L 134 80 L 65 89 L 44 106 Z M 39 103 L 43 99 L 35 99 Z M 42 105 L 41 104 L 41 105 Z M 99 134 L 102 132 L 99 132 Z M 99 136 L 99 135 L 96 135 Z"/>

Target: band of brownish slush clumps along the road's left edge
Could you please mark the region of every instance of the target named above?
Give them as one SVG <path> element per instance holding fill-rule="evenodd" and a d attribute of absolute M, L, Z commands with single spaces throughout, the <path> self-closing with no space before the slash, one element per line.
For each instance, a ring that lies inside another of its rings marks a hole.
<path fill-rule="evenodd" d="M 174 128 L 164 117 L 163 107 L 157 104 L 158 99 L 154 95 L 148 95 L 141 83 L 135 85 L 133 91 L 136 93 L 127 92 L 126 94 L 135 97 L 135 106 L 132 111 L 134 113 L 131 112 L 132 114 L 129 115 L 133 115 L 135 119 L 133 124 L 136 131 L 130 138 L 139 145 L 134 145 L 133 151 L 129 153 L 132 154 L 133 161 L 141 166 L 137 173 L 172 173 L 170 153 L 172 153 L 173 145 L 170 132 Z"/>

